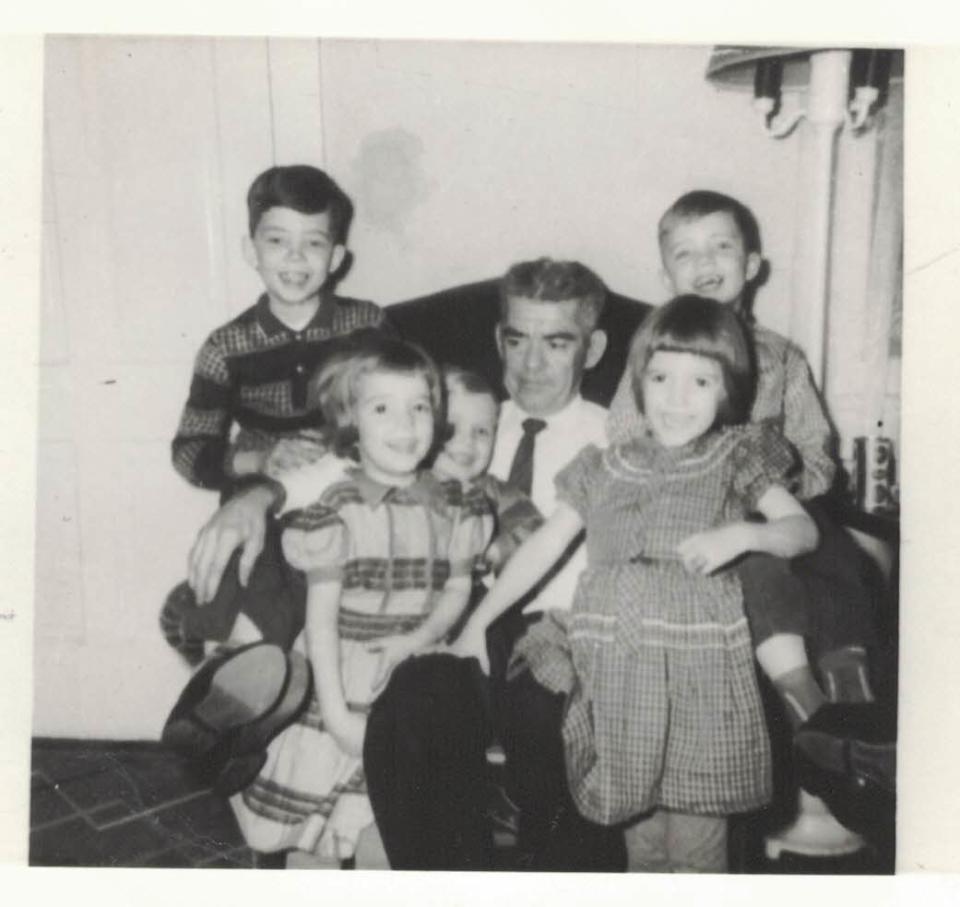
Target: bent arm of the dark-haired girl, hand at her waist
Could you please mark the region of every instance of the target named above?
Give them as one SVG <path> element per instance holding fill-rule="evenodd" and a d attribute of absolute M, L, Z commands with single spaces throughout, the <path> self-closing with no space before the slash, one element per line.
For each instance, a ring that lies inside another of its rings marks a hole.
<path fill-rule="evenodd" d="M 797 499 L 780 485 L 771 485 L 757 501 L 765 523 L 741 520 L 698 532 L 677 546 L 691 573 L 713 573 L 748 551 L 798 557 L 819 541 L 817 525 Z"/>

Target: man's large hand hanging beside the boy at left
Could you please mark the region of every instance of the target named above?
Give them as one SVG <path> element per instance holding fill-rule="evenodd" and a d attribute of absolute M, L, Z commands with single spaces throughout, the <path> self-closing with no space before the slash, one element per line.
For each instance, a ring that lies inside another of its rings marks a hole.
<path fill-rule="evenodd" d="M 238 574 L 240 585 L 250 579 L 267 530 L 267 512 L 274 503 L 271 489 L 257 486 L 231 498 L 207 520 L 190 549 L 187 580 L 198 604 L 212 601 L 220 586 L 230 556 L 242 549 Z"/>

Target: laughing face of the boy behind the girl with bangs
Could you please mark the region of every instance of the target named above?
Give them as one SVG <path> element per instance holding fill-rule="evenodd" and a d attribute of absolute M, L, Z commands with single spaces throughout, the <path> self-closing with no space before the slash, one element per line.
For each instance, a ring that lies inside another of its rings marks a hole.
<path fill-rule="evenodd" d="M 760 255 L 747 252 L 733 216 L 715 211 L 678 219 L 660 240 L 663 279 L 674 295 L 695 293 L 738 305 L 760 270 Z"/>

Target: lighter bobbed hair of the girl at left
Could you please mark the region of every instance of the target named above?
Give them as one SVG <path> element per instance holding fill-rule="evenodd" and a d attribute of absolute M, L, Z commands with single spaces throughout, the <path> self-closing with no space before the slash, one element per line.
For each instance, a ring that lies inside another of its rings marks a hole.
<path fill-rule="evenodd" d="M 436 444 L 446 419 L 440 370 L 419 346 L 376 328 L 364 328 L 334 341 L 330 355 L 307 385 L 307 405 L 323 413 L 337 456 L 360 459 L 353 411 L 360 397 L 361 381 L 376 372 L 423 377 L 430 394 Z"/>

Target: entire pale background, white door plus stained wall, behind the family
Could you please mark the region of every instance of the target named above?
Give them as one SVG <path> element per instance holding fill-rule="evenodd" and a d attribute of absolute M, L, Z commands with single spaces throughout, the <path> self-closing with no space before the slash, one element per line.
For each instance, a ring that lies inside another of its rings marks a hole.
<path fill-rule="evenodd" d="M 580 258 L 663 298 L 655 225 L 712 187 L 757 213 L 786 330 L 797 143 L 703 78 L 706 47 L 51 39 L 38 452 L 38 734 L 151 738 L 186 678 L 157 627 L 213 496 L 168 445 L 205 334 L 251 303 L 250 179 L 356 202 L 343 292 L 390 303 Z"/>

